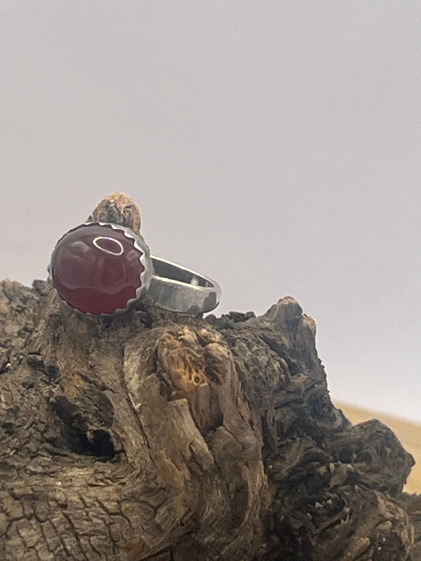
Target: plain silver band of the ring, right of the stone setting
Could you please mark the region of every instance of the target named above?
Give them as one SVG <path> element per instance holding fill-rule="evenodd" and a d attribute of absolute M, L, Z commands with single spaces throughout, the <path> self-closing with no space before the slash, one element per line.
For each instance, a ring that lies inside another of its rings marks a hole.
<path fill-rule="evenodd" d="M 181 314 L 202 314 L 216 308 L 221 288 L 214 280 L 166 259 L 151 255 L 154 274 L 144 304 Z"/>

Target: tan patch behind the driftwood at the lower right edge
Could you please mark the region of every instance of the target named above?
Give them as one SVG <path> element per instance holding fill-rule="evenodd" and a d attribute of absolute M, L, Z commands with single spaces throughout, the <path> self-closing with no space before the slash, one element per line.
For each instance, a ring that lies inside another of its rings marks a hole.
<path fill-rule="evenodd" d="M 407 493 L 421 493 L 421 425 L 400 417 L 393 417 L 379 411 L 369 411 L 343 402 L 335 401 L 335 407 L 341 409 L 354 425 L 369 419 L 378 419 L 390 427 L 405 450 L 414 456 L 416 462 L 409 474 L 404 490 Z"/>

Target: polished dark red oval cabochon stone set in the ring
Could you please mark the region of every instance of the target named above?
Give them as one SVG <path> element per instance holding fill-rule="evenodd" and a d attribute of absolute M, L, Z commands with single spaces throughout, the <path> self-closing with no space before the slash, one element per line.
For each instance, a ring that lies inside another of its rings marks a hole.
<path fill-rule="evenodd" d="M 91 314 L 114 314 L 136 297 L 143 252 L 120 229 L 82 224 L 58 241 L 51 256 L 54 287 L 70 306 Z"/>

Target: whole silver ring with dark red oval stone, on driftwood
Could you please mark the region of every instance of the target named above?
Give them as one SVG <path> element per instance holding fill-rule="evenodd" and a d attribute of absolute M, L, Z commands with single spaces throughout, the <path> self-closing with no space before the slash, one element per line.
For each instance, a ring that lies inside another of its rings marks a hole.
<path fill-rule="evenodd" d="M 221 298 L 214 280 L 150 255 L 140 236 L 108 222 L 86 222 L 65 233 L 48 270 L 67 304 L 95 316 L 125 312 L 135 302 L 202 314 L 216 308 Z"/>

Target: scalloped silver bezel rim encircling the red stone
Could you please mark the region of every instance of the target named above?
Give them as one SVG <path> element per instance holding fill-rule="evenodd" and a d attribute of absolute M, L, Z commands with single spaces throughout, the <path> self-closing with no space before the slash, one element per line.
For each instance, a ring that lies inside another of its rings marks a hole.
<path fill-rule="evenodd" d="M 141 255 L 139 255 L 139 261 L 144 268 L 143 272 L 141 272 L 139 275 L 140 286 L 136 288 L 136 296 L 134 298 L 130 298 L 130 300 L 127 301 L 125 308 L 117 308 L 117 310 L 112 314 L 106 314 L 104 312 L 102 314 L 93 314 L 92 312 L 85 312 L 83 310 L 79 310 L 79 308 L 76 308 L 75 306 L 68 304 L 65 298 L 62 298 L 60 294 L 59 296 L 64 302 L 66 302 L 68 306 L 70 306 L 73 310 L 77 310 L 80 314 L 88 315 L 93 318 L 112 318 L 116 314 L 123 314 L 124 312 L 129 310 L 130 307 L 133 304 L 135 304 L 135 302 L 138 302 L 140 298 L 144 296 L 144 294 L 148 291 L 150 281 L 152 279 L 152 274 L 153 274 L 152 259 L 150 257 L 149 247 L 144 241 L 141 240 L 139 236 L 136 236 L 134 232 L 132 232 L 129 228 L 126 228 L 125 226 L 120 226 L 120 224 L 111 224 L 110 222 L 84 222 L 83 224 L 79 224 L 78 226 L 71 228 L 65 234 L 63 234 L 63 236 L 61 236 L 61 238 L 57 241 L 56 245 L 54 246 L 54 250 L 56 249 L 58 243 L 60 243 L 61 240 L 65 236 L 67 236 L 67 234 L 69 234 L 70 232 L 74 232 L 75 230 L 82 228 L 84 226 L 92 226 L 93 224 L 98 224 L 98 226 L 108 226 L 114 230 L 120 230 L 127 238 L 134 240 L 133 245 L 137 250 L 141 252 Z M 52 251 L 51 256 L 53 255 L 54 250 Z M 50 260 L 50 265 L 48 266 L 48 272 L 51 274 L 51 260 Z"/>

